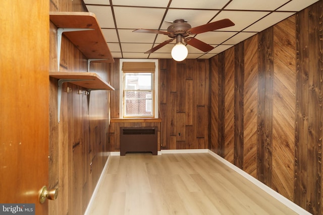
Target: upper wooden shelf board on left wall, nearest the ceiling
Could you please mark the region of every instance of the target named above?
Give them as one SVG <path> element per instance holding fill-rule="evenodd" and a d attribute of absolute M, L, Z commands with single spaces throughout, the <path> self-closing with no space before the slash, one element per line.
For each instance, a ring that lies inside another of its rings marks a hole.
<path fill-rule="evenodd" d="M 64 32 L 64 35 L 88 59 L 105 59 L 114 62 L 101 28 L 93 13 L 88 12 L 49 12 L 50 21 L 58 28 L 93 29 L 87 31 Z"/>

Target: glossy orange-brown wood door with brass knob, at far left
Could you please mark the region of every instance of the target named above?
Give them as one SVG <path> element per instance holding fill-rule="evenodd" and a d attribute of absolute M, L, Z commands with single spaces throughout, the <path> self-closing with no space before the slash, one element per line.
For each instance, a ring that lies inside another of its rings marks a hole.
<path fill-rule="evenodd" d="M 0 203 L 35 203 L 48 183 L 49 1 L 1 1 Z"/>

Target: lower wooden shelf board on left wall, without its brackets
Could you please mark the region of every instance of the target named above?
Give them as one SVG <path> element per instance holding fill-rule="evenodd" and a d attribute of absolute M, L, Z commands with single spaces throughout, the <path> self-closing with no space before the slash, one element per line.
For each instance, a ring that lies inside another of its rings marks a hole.
<path fill-rule="evenodd" d="M 102 80 L 96 73 L 68 73 L 64 71 L 49 72 L 55 79 L 67 80 L 72 84 L 91 90 L 115 90 L 110 84 Z"/>

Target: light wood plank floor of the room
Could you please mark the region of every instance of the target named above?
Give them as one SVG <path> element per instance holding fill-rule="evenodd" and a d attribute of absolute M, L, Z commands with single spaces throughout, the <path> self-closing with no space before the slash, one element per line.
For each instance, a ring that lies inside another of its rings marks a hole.
<path fill-rule="evenodd" d="M 110 159 L 88 214 L 296 214 L 208 153 Z"/>

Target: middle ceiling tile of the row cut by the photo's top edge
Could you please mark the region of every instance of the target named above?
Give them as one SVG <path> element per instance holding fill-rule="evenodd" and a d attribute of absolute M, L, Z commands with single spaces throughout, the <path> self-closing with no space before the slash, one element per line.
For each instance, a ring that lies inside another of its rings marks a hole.
<path fill-rule="evenodd" d="M 173 0 L 171 8 L 190 8 L 190 9 L 222 9 L 228 0 L 199 0 L 199 1 L 185 1 Z"/>

